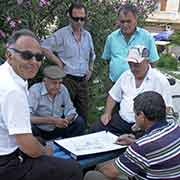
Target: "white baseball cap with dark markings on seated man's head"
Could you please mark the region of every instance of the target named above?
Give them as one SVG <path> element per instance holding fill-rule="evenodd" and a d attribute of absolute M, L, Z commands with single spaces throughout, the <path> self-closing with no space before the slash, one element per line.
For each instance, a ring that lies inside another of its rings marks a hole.
<path fill-rule="evenodd" d="M 133 63 L 141 63 L 144 59 L 148 59 L 149 50 L 142 45 L 136 45 L 129 49 L 127 61 Z"/>

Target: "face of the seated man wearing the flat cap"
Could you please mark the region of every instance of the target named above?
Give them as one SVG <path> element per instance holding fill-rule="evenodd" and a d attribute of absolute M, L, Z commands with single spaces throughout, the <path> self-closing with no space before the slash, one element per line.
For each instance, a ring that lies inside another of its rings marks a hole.
<path fill-rule="evenodd" d="M 47 88 L 48 94 L 50 96 L 56 96 L 59 92 L 59 89 L 61 87 L 62 79 L 44 79 L 44 84 Z"/>

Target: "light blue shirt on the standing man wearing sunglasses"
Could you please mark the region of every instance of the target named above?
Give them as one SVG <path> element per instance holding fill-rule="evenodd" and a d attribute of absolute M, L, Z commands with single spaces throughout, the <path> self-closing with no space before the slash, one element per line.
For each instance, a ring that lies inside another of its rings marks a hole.
<path fill-rule="evenodd" d="M 57 30 L 43 40 L 42 47 L 56 52 L 64 63 L 64 72 L 74 76 L 86 75 L 90 61 L 94 61 L 96 57 L 91 34 L 81 29 L 81 40 L 77 42 L 71 25 Z"/>

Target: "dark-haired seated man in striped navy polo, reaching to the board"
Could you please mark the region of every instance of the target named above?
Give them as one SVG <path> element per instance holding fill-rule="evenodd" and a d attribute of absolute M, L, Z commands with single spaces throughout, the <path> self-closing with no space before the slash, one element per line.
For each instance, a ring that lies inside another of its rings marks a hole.
<path fill-rule="evenodd" d="M 119 144 L 131 144 L 117 159 L 90 171 L 84 180 L 115 179 L 124 174 L 135 179 L 180 179 L 180 126 L 166 121 L 166 105 L 154 91 L 139 94 L 134 99 L 136 124 L 145 130 L 138 140 L 122 135 Z M 101 172 L 101 173 L 100 173 Z"/>

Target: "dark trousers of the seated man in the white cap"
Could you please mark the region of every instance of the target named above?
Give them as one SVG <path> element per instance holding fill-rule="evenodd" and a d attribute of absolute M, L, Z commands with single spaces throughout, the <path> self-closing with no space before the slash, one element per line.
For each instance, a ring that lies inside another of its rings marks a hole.
<path fill-rule="evenodd" d="M 99 132 L 99 131 L 110 131 L 116 135 L 122 135 L 126 133 L 133 133 L 131 127 L 134 123 L 127 123 L 124 121 L 119 113 L 113 113 L 111 121 L 105 126 L 100 120 L 92 124 L 89 129 L 90 133 Z"/>

